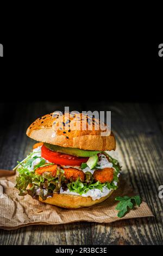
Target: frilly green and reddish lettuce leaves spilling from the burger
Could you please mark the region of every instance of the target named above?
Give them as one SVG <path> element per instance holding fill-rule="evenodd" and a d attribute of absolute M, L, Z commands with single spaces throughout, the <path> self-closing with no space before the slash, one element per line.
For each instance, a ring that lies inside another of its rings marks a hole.
<path fill-rule="evenodd" d="M 97 188 L 103 191 L 103 187 L 107 187 L 109 190 L 116 190 L 117 186 L 114 181 L 118 182 L 118 173 L 121 170 L 120 164 L 116 159 L 113 159 L 110 155 L 103 152 L 108 158 L 109 162 L 113 164 L 115 169 L 114 180 L 112 182 L 95 182 L 93 176 L 90 172 L 86 172 L 85 181 L 81 182 L 80 179 L 73 181 L 66 180 L 64 176 L 64 170 L 58 167 L 57 175 L 52 176 L 51 172 L 42 173 L 42 175 L 37 175 L 35 170 L 42 166 L 48 166 L 53 163 L 46 163 L 45 159 L 39 156 L 33 156 L 31 153 L 26 159 L 18 164 L 19 175 L 16 178 L 16 188 L 20 191 L 19 195 L 24 196 L 30 194 L 33 198 L 38 199 L 39 196 L 42 200 L 46 200 L 47 197 L 52 197 L 54 192 L 59 193 L 60 188 L 66 191 L 68 188 L 71 192 L 76 192 L 80 195 L 86 193 L 89 190 Z M 40 158 L 40 162 L 34 166 L 34 170 L 29 170 L 28 167 L 32 167 L 33 161 Z M 30 184 L 30 186 L 28 186 Z"/>

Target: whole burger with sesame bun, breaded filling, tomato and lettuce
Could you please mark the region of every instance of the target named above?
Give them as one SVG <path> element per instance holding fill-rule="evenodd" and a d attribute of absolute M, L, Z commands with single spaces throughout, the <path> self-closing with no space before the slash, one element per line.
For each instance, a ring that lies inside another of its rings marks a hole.
<path fill-rule="evenodd" d="M 53 112 L 36 119 L 27 136 L 37 143 L 14 168 L 19 196 L 74 209 L 101 203 L 117 189 L 121 167 L 108 152 L 116 149 L 115 136 L 99 119 Z"/>

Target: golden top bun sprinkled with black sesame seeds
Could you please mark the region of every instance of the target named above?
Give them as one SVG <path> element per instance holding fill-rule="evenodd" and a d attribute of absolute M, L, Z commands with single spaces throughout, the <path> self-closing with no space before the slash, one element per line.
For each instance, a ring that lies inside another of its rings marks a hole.
<path fill-rule="evenodd" d="M 116 141 L 113 133 L 102 122 L 100 122 L 99 129 L 96 130 L 98 124 L 99 119 L 88 115 L 54 112 L 36 119 L 28 127 L 27 136 L 35 141 L 65 148 L 115 150 Z M 82 130 L 83 127 L 85 130 Z"/>

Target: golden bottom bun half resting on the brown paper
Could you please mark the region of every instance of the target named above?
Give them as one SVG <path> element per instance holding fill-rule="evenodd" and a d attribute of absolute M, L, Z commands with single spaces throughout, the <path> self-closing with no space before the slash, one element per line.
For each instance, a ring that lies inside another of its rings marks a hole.
<path fill-rule="evenodd" d="M 47 198 L 45 201 L 42 200 L 41 197 L 39 197 L 39 200 L 42 203 L 45 204 L 52 204 L 55 206 L 59 206 L 61 208 L 67 208 L 67 209 L 76 209 L 80 207 L 88 207 L 93 204 L 99 204 L 103 202 L 105 199 L 111 196 L 112 192 L 114 190 L 110 191 L 110 193 L 102 197 L 100 199 L 92 200 L 91 197 L 81 197 L 81 196 L 74 196 L 72 194 L 57 194 L 55 193 L 53 197 Z"/>

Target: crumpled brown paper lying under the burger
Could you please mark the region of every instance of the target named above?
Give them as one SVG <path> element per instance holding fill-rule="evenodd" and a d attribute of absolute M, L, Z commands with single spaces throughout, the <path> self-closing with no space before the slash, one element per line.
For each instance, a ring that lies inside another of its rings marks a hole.
<path fill-rule="evenodd" d="M 78 221 L 110 223 L 127 218 L 153 216 L 145 202 L 135 206 L 123 218 L 117 217 L 115 207 L 117 196 L 132 196 L 133 191 L 121 179 L 120 187 L 104 202 L 76 210 L 61 209 L 43 204 L 29 195 L 18 196 L 15 186 L 15 175 L 0 179 L 0 228 L 12 230 L 27 225 L 54 225 Z"/>

